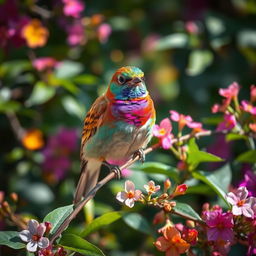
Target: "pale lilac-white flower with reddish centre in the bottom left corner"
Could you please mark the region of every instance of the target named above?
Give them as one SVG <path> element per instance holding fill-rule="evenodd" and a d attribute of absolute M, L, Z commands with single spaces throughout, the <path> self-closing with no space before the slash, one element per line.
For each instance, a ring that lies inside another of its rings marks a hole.
<path fill-rule="evenodd" d="M 29 252 L 36 252 L 37 247 L 47 248 L 49 246 L 49 239 L 43 237 L 46 227 L 44 223 L 39 224 L 36 220 L 28 222 L 28 229 L 22 230 L 19 233 L 20 239 L 27 244 Z"/>

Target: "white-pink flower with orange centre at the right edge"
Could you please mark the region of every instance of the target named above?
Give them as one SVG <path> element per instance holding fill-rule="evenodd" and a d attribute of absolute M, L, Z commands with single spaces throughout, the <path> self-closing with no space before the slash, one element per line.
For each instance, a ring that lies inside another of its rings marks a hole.
<path fill-rule="evenodd" d="M 252 209 L 253 198 L 248 196 L 246 187 L 239 187 L 236 193 L 229 192 L 226 196 L 227 201 L 232 205 L 232 213 L 236 216 L 244 215 L 248 218 L 254 217 Z"/>

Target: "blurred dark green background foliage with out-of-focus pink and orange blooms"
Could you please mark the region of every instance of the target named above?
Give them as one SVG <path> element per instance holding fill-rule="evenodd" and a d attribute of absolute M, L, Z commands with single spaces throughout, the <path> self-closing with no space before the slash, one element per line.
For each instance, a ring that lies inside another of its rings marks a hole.
<path fill-rule="evenodd" d="M 214 128 L 218 115 L 210 115 L 220 102 L 218 89 L 237 81 L 249 98 L 255 83 L 255 15 L 254 0 L 1 0 L 0 200 L 16 192 L 17 212 L 39 219 L 72 202 L 83 118 L 121 66 L 144 71 L 157 122 L 175 109 Z M 200 143 L 212 143 L 210 152 L 231 159 L 230 144 L 220 148 L 221 140 Z M 147 160 L 177 165 L 161 150 Z M 139 188 L 149 179 L 164 180 L 136 170 L 124 175 Z M 112 181 L 99 191 L 73 228 L 119 210 L 115 194 L 123 183 Z M 184 200 L 200 211 L 209 198 Z M 138 207 L 152 222 L 154 209 Z M 0 226 L 15 229 L 3 219 Z M 143 232 L 120 220 L 91 241 L 107 255 L 157 254 L 152 236 Z"/>

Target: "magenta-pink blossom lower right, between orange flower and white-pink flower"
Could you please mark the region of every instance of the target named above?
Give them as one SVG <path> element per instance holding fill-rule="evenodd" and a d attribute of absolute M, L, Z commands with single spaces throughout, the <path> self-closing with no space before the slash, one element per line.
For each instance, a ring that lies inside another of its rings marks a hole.
<path fill-rule="evenodd" d="M 233 216 L 231 213 L 223 213 L 221 210 L 204 212 L 204 219 L 208 226 L 207 238 L 209 241 L 233 240 Z"/>

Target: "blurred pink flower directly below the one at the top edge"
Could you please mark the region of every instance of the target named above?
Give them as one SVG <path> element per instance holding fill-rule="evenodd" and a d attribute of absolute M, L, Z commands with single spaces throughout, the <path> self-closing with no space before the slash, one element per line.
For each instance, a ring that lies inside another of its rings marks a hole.
<path fill-rule="evenodd" d="M 82 45 L 85 44 L 85 30 L 81 23 L 77 22 L 67 27 L 69 45 Z"/>

